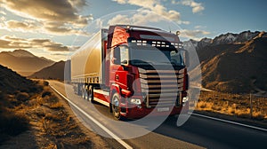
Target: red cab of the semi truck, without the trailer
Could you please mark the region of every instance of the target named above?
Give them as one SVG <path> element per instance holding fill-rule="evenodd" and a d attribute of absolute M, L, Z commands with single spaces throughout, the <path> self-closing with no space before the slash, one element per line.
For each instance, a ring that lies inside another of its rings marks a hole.
<path fill-rule="evenodd" d="M 109 27 L 111 111 L 140 118 L 188 106 L 187 52 L 177 35 L 154 27 Z"/>

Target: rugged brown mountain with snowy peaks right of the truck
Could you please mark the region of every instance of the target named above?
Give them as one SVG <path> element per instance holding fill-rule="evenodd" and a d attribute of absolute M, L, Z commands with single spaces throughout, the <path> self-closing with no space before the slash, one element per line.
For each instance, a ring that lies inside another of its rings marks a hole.
<path fill-rule="evenodd" d="M 228 33 L 190 42 L 198 52 L 203 87 L 223 92 L 267 90 L 265 32 Z"/>

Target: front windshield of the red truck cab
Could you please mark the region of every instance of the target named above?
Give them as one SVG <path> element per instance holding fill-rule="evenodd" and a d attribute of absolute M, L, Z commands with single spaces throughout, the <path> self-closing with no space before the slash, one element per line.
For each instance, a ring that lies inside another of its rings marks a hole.
<path fill-rule="evenodd" d="M 130 64 L 132 65 L 164 65 L 184 66 L 180 51 L 170 51 L 166 48 L 130 48 Z"/>

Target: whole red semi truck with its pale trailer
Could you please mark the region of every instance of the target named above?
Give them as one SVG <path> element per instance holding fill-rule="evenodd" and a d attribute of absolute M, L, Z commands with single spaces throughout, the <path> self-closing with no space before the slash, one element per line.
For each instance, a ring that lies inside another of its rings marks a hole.
<path fill-rule="evenodd" d="M 188 109 L 187 51 L 178 34 L 129 25 L 101 29 L 71 56 L 71 82 L 116 119 Z M 187 111 L 187 110 L 185 110 Z"/>

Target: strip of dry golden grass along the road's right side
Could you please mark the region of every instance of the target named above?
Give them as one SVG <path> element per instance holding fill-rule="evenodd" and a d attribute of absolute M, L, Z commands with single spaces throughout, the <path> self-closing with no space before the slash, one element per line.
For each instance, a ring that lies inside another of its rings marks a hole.
<path fill-rule="evenodd" d="M 253 113 L 251 115 L 249 95 L 202 91 L 196 110 L 266 121 L 267 98 L 252 98 Z"/>

